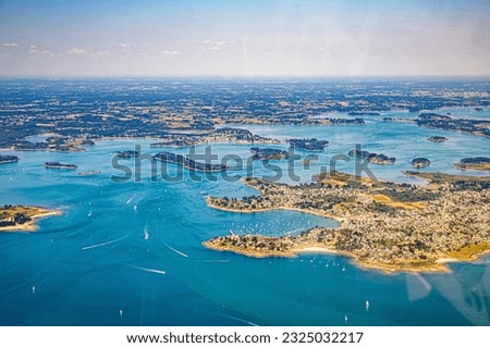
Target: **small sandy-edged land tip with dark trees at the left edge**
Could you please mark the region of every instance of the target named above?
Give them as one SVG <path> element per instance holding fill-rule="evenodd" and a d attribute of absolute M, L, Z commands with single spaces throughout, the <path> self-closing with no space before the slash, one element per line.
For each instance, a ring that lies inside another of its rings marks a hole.
<path fill-rule="evenodd" d="M 39 217 L 60 215 L 58 210 L 41 207 L 11 206 L 0 207 L 0 232 L 36 231 L 35 221 Z"/>

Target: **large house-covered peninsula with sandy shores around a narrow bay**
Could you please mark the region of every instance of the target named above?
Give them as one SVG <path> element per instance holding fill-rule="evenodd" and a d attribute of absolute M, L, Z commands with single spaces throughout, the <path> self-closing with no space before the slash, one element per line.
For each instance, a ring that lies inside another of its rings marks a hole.
<path fill-rule="evenodd" d="M 287 209 L 339 222 L 298 235 L 230 234 L 204 246 L 250 257 L 332 252 L 383 272 L 441 272 L 446 262 L 469 261 L 490 250 L 490 177 L 407 172 L 429 181 L 416 186 L 322 173 L 313 184 L 287 185 L 247 178 L 259 196 L 208 197 L 210 207 L 241 213 Z"/>

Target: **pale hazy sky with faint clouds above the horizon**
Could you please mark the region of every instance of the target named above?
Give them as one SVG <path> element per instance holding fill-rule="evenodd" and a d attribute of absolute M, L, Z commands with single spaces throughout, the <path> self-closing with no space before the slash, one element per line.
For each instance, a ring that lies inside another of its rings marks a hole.
<path fill-rule="evenodd" d="M 0 0 L 0 77 L 488 77 L 489 18 L 489 0 Z"/>

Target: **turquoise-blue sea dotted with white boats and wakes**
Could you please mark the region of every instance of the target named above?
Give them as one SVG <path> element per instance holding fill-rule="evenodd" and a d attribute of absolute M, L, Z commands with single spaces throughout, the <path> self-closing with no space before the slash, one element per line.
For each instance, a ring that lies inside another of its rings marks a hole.
<path fill-rule="evenodd" d="M 467 115 L 470 110 L 451 112 Z M 478 116 L 490 117 L 490 109 Z M 414 182 L 402 174 L 411 169 L 414 157 L 432 161 L 425 171 L 460 173 L 453 163 L 461 158 L 489 154 L 488 138 L 380 120 L 366 116 L 364 126 L 247 128 L 280 139 L 329 140 L 331 145 L 309 169 L 295 169 L 303 182 L 328 165 L 332 156 L 345 154 L 355 144 L 396 157 L 394 165 L 370 166 L 378 178 L 396 182 Z M 450 140 L 426 140 L 433 135 Z M 150 173 L 149 163 L 143 163 L 140 181 L 111 181 L 112 175 L 122 174 L 111 166 L 114 152 L 134 145 L 140 145 L 146 153 L 160 150 L 150 149 L 149 142 L 99 141 L 79 153 L 1 151 L 19 156 L 20 162 L 0 166 L 0 202 L 45 206 L 62 210 L 63 214 L 40 220 L 36 233 L 0 234 L 0 324 L 490 324 L 488 256 L 475 263 L 453 263 L 449 274 L 387 275 L 358 269 L 348 259 L 330 254 L 254 259 L 207 250 L 201 246 L 204 240 L 230 229 L 277 236 L 335 223 L 292 211 L 218 211 L 207 207 L 207 196 L 257 192 L 240 181 L 218 177 L 196 182 L 187 171 L 182 181 L 166 182 L 155 175 L 160 173 Z M 285 144 L 277 147 L 286 148 Z M 248 148 L 212 146 L 219 157 L 232 153 L 246 158 Z M 75 163 L 78 170 L 48 171 L 42 166 L 46 161 Z M 132 166 L 134 160 L 121 163 Z M 284 161 L 274 164 L 287 172 Z M 260 163 L 253 165 L 254 175 L 269 174 Z M 91 170 L 101 174 L 77 175 Z M 338 170 L 352 172 L 353 163 L 340 161 Z M 170 167 L 169 174 L 176 175 L 175 167 Z M 294 182 L 287 175 L 281 181 Z"/>

